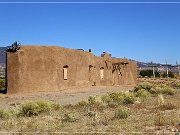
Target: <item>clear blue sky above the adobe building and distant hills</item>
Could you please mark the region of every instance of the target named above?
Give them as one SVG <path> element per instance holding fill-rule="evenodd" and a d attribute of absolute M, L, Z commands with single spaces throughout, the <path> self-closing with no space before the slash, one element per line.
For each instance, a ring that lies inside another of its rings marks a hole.
<path fill-rule="evenodd" d="M 28 45 L 91 48 L 95 55 L 105 51 L 144 62 L 180 63 L 180 3 L 1 3 L 0 18 L 0 46 L 17 40 Z"/>

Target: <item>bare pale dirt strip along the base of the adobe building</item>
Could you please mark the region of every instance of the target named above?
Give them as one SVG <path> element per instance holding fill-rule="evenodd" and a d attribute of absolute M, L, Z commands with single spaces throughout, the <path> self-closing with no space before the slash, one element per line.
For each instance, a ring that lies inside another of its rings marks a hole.
<path fill-rule="evenodd" d="M 89 96 L 100 96 L 107 92 L 128 91 L 133 86 L 92 86 L 86 88 L 66 89 L 60 92 L 39 92 L 27 93 L 23 95 L 0 95 L 0 108 L 14 108 L 26 100 L 49 100 L 61 105 L 74 104 L 82 100 L 87 100 Z"/>

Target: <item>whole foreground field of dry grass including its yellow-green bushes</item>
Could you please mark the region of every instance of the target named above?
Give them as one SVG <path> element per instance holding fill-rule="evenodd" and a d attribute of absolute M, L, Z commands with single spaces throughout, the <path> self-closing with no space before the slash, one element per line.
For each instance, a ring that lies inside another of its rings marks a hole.
<path fill-rule="evenodd" d="M 169 80 L 172 81 L 172 80 Z M 109 92 L 61 106 L 51 101 L 26 101 L 0 109 L 0 131 L 96 134 L 180 133 L 179 83 L 141 81 L 130 92 Z M 151 83 L 149 83 L 151 82 Z"/>

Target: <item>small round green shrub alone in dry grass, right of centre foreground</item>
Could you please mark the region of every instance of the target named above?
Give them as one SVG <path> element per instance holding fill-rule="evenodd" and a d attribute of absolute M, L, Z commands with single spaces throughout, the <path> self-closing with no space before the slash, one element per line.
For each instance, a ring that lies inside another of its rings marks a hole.
<path fill-rule="evenodd" d="M 123 109 L 118 109 L 115 111 L 114 118 L 116 119 L 126 119 L 129 116 L 129 112 Z"/>

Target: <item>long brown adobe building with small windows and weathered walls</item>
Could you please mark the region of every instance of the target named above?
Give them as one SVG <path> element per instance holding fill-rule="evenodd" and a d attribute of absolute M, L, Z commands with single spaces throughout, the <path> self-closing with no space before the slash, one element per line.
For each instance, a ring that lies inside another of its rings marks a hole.
<path fill-rule="evenodd" d="M 7 93 L 135 85 L 137 64 L 125 58 L 56 46 L 21 46 L 7 51 Z"/>

